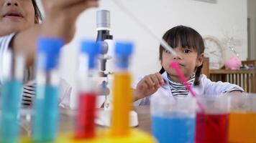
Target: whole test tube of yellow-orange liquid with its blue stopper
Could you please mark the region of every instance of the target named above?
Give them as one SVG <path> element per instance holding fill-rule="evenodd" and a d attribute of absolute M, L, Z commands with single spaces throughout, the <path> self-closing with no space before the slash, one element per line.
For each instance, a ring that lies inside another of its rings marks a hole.
<path fill-rule="evenodd" d="M 129 56 L 132 55 L 132 44 L 116 44 L 116 66 L 114 74 L 114 99 L 110 134 L 111 136 L 125 136 L 129 134 L 129 111 L 132 103 L 132 77 L 129 74 Z"/>

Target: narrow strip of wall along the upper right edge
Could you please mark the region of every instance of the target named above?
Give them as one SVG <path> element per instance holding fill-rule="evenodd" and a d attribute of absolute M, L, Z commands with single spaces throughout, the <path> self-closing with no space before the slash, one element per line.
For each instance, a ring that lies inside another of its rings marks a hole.
<path fill-rule="evenodd" d="M 248 18 L 250 18 L 250 52 L 248 56 L 250 59 L 256 59 L 256 1 L 248 0 Z"/>

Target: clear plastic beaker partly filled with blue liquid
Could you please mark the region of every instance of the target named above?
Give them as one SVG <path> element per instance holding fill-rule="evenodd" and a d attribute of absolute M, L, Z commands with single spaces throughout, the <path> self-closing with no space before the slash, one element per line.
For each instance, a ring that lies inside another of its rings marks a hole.
<path fill-rule="evenodd" d="M 158 142 L 194 142 L 196 99 L 157 96 L 150 104 L 152 134 Z"/>

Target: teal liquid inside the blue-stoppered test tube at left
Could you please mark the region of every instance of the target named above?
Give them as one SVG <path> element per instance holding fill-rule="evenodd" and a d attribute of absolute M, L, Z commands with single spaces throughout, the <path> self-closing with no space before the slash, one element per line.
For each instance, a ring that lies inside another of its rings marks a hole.
<path fill-rule="evenodd" d="M 58 87 L 37 85 L 32 134 L 35 142 L 49 142 L 56 138 L 58 95 Z"/>

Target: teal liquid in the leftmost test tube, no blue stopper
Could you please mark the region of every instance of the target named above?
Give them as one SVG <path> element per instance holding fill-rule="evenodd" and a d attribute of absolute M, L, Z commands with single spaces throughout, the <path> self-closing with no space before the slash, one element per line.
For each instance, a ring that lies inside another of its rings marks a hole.
<path fill-rule="evenodd" d="M 19 139 L 19 121 L 17 115 L 21 106 L 22 82 L 6 81 L 2 86 L 0 142 L 17 142 Z"/>

